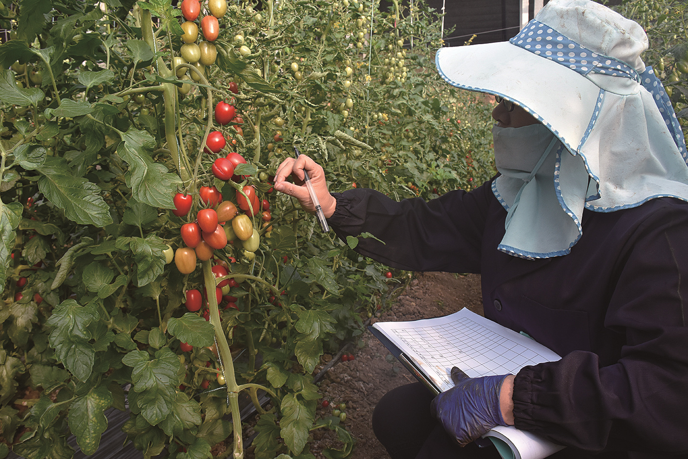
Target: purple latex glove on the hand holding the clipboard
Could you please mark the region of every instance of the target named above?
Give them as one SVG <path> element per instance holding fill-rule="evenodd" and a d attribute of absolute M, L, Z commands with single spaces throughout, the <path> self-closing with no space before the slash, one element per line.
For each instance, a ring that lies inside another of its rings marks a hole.
<path fill-rule="evenodd" d="M 462 447 L 496 425 L 506 425 L 499 407 L 499 392 L 506 376 L 469 378 L 457 367 L 451 369 L 455 386 L 436 396 L 430 409 Z"/>

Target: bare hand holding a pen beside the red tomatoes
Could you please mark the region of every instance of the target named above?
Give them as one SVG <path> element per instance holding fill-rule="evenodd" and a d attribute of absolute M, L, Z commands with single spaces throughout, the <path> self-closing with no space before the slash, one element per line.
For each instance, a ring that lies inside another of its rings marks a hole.
<path fill-rule="evenodd" d="M 299 158 L 287 158 L 282 164 L 279 164 L 277 175 L 275 175 L 275 189 L 297 198 L 305 211 L 314 213 L 315 206 L 303 181 L 305 178 L 304 170 L 308 172 L 308 177 L 310 177 L 310 182 L 320 201 L 325 218 L 332 217 L 337 202 L 330 195 L 330 191 L 327 190 L 325 171 L 308 156 L 301 155 Z M 294 176 L 294 183 L 286 182 L 289 175 Z"/>

